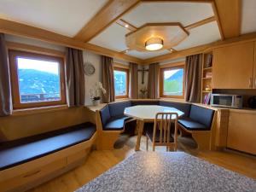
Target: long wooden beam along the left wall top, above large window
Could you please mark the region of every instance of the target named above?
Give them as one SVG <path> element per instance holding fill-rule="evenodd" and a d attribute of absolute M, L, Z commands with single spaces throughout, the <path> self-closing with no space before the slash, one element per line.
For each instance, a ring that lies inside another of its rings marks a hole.
<path fill-rule="evenodd" d="M 96 54 L 108 55 L 117 59 L 136 62 L 137 64 L 140 64 L 142 62 L 142 60 L 130 55 L 125 55 L 111 49 L 102 48 L 94 44 L 86 44 L 73 38 L 57 34 L 55 32 L 49 32 L 47 30 L 40 29 L 34 26 L 27 26 L 25 24 L 21 24 L 15 21 L 0 19 L 0 32 L 24 38 L 34 38 L 44 42 L 48 42 L 50 44 L 59 44 L 65 47 L 71 47 L 75 49 L 87 49 Z"/>

